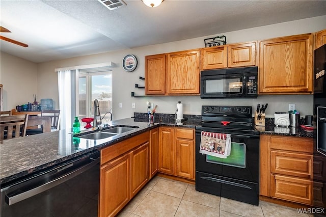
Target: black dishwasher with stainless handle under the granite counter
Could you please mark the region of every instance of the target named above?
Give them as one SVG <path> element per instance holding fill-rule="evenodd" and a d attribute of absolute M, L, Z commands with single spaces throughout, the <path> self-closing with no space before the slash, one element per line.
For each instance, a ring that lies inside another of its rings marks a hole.
<path fill-rule="evenodd" d="M 98 210 L 100 151 L 1 186 L 1 217 L 88 216 Z"/>

